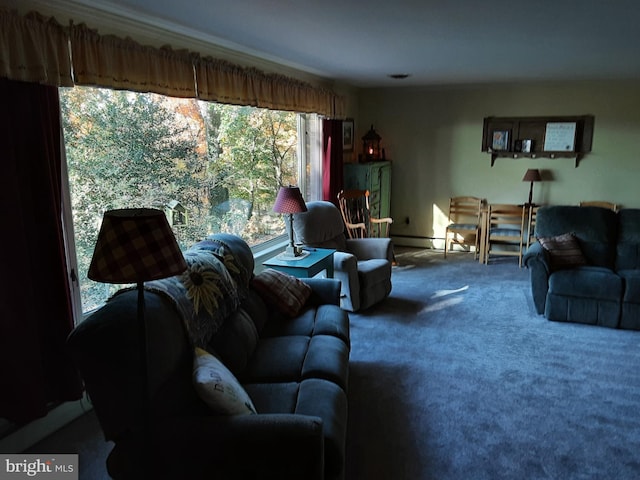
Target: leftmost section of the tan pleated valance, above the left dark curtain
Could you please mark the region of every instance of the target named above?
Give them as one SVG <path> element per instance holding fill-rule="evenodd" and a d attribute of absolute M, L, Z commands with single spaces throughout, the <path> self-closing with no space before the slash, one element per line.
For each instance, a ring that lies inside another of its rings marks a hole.
<path fill-rule="evenodd" d="M 67 29 L 35 12 L 22 17 L 0 10 L 0 76 L 73 86 Z"/>

